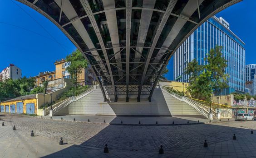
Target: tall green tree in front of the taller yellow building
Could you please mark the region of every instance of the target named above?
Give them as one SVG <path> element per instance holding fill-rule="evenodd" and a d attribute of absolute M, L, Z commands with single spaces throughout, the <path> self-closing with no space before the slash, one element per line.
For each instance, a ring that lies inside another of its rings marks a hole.
<path fill-rule="evenodd" d="M 87 68 L 88 62 L 78 49 L 73 51 L 72 54 L 68 55 L 66 60 L 67 62 L 70 62 L 67 70 L 69 71 L 69 74 L 77 87 L 77 79 L 79 78 L 79 74 L 81 74 L 83 70 Z"/>

